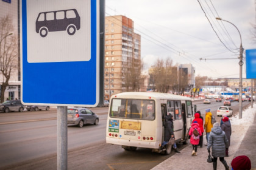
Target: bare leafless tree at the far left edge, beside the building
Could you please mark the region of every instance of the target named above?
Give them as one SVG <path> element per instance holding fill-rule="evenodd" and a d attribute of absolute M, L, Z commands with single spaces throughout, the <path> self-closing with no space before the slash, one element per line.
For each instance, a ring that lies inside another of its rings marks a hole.
<path fill-rule="evenodd" d="M 14 26 L 10 15 L 0 18 L 0 73 L 2 74 L 1 103 L 4 92 L 9 86 L 13 71 L 18 66 L 18 38 L 14 35 Z"/>

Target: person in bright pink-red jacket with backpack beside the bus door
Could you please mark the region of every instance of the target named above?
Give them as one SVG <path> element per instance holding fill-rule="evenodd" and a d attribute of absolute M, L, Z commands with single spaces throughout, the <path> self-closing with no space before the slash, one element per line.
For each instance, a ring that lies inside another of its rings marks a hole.
<path fill-rule="evenodd" d="M 198 132 L 197 136 L 194 134 L 194 129 L 196 129 Z M 193 151 L 191 155 L 192 156 L 197 155 L 197 145 L 199 144 L 199 138 L 202 135 L 201 129 L 197 121 L 194 121 L 194 123 L 191 124 L 190 132 L 188 132 L 188 135 L 191 136 L 190 143 L 192 144 L 192 147 L 193 147 Z"/>

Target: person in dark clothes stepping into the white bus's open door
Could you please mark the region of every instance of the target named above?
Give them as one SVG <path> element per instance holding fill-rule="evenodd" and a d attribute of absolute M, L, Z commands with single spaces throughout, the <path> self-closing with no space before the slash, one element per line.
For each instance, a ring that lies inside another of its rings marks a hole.
<path fill-rule="evenodd" d="M 170 140 L 171 137 L 174 138 L 173 130 L 174 130 L 173 116 L 172 116 L 172 114 L 169 114 L 165 117 L 165 141 L 163 141 L 162 147 L 168 143 L 168 141 Z M 180 153 L 180 151 L 178 151 L 178 149 L 177 149 L 177 145 L 175 142 L 172 145 L 172 147 L 174 148 L 175 152 Z"/>

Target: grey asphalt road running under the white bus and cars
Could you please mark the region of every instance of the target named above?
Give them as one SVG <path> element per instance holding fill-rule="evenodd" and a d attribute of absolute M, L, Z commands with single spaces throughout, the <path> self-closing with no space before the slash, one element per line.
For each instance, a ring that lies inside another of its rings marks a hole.
<path fill-rule="evenodd" d="M 202 100 L 193 104 L 203 116 L 205 109 L 210 108 L 216 115 L 222 106 L 215 100 L 211 104 L 202 104 Z M 231 107 L 238 112 L 238 102 Z M 68 126 L 68 169 L 151 169 L 174 154 L 172 151 L 166 156 L 144 148 L 124 151 L 121 146 L 106 144 L 107 109 L 92 108 L 99 115 L 97 126 Z M 182 150 L 186 145 L 178 147 Z M 0 169 L 56 169 L 56 153 L 57 109 L 0 113 Z"/>

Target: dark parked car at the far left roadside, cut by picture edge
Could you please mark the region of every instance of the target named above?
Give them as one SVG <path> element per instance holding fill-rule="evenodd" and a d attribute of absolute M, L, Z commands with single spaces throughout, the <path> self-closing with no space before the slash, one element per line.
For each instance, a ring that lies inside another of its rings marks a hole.
<path fill-rule="evenodd" d="M 0 104 L 0 110 L 5 113 L 13 111 L 23 112 L 24 106 L 20 100 L 6 100 L 4 103 Z"/>

